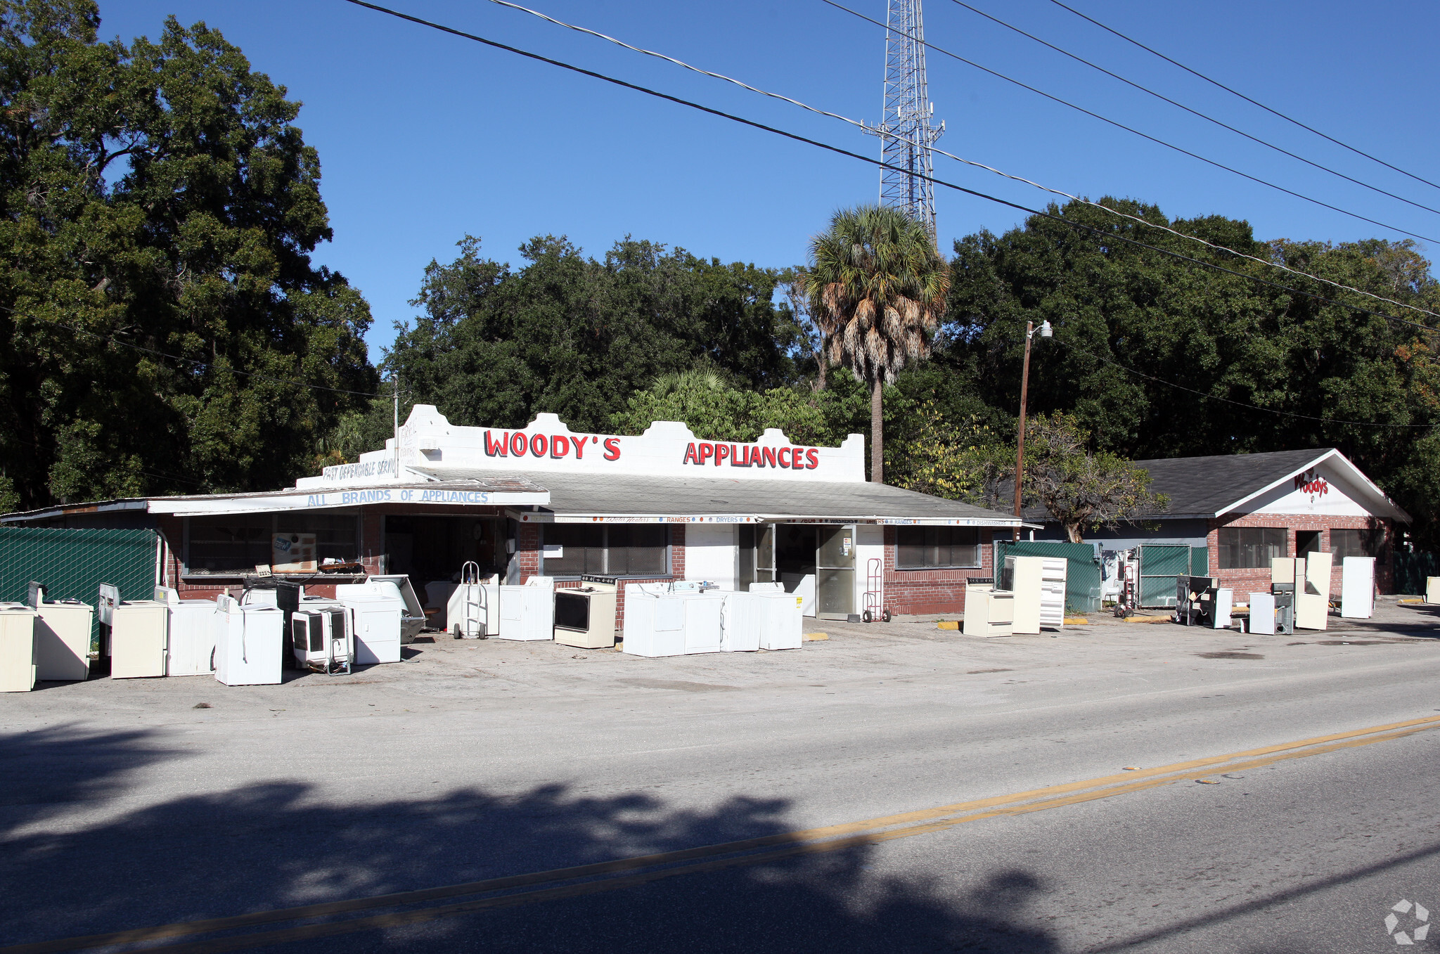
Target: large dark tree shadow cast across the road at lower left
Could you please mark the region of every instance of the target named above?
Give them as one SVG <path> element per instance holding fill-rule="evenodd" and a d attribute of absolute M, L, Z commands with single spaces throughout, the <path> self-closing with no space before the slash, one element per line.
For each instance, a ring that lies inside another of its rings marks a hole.
<path fill-rule="evenodd" d="M 393 796 L 367 801 L 274 781 L 131 803 L 143 794 L 138 773 L 183 758 L 147 731 L 0 735 L 0 945 L 435 888 L 798 827 L 778 799 L 734 797 L 697 813 L 645 793 L 431 791 L 429 778 L 397 781 Z M 897 856 L 906 855 L 891 853 L 891 863 Z M 1028 909 L 1044 894 L 1034 873 L 979 862 L 981 886 L 956 896 L 920 871 L 880 873 L 881 860 L 876 849 L 857 846 L 252 950 L 1058 951 Z M 258 930 L 278 927 L 285 925 Z"/>

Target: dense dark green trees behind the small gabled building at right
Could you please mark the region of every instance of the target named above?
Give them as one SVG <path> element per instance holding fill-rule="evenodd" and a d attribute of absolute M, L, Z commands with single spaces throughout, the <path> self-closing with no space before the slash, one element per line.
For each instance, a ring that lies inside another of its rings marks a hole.
<path fill-rule="evenodd" d="M 1408 242 L 1264 243 L 1244 222 L 1171 222 L 1153 206 L 1103 201 L 1227 249 L 1440 311 L 1430 262 Z M 1417 518 L 1423 542 L 1440 542 L 1434 335 L 1354 306 L 1423 315 L 1207 252 L 1080 203 L 1051 213 L 1102 235 L 1032 217 L 1004 236 L 982 232 L 956 242 L 943 358 L 960 371 L 963 387 L 1012 413 L 1025 322 L 1048 319 L 1056 337 L 1037 338 L 1031 357 L 1032 413 L 1073 413 L 1096 449 L 1135 459 L 1339 448 Z"/>

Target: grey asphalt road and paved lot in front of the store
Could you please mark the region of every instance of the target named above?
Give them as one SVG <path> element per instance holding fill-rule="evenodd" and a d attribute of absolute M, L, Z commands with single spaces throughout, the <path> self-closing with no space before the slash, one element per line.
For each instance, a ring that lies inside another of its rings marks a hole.
<path fill-rule="evenodd" d="M 1293 637 L 822 626 L 0 696 L 0 945 L 251 915 L 143 947 L 1299 954 L 1395 948 L 1401 901 L 1440 919 L 1427 609 Z"/>

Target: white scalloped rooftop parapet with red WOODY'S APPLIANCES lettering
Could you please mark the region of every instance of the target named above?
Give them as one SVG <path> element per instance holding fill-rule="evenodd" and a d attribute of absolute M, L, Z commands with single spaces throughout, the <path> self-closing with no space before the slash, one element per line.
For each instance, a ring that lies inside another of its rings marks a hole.
<path fill-rule="evenodd" d="M 399 458 L 399 473 L 386 460 Z M 644 435 L 576 433 L 554 414 L 539 414 L 530 426 L 452 426 L 435 407 L 416 404 L 400 429 L 399 453 L 392 448 L 361 455 L 359 463 L 325 468 L 315 485 L 367 483 L 384 479 L 461 478 L 475 471 L 549 471 L 567 473 L 635 473 L 647 476 L 724 476 L 864 482 L 864 437 L 850 435 L 838 448 L 791 443 L 776 429 L 755 442 L 700 440 L 683 423 L 661 420 Z"/>

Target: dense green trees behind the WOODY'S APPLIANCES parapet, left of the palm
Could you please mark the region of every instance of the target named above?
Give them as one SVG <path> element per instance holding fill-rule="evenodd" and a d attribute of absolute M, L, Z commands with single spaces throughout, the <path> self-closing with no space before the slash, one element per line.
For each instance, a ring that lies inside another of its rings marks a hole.
<path fill-rule="evenodd" d="M 553 412 L 602 430 L 632 393 L 694 368 L 749 389 L 795 380 L 796 328 L 770 301 L 773 269 L 631 239 L 596 260 L 537 237 L 518 269 L 481 258 L 478 239 L 459 247 L 425 269 L 422 314 L 386 358 L 408 403 L 458 424 L 520 427 Z"/>

